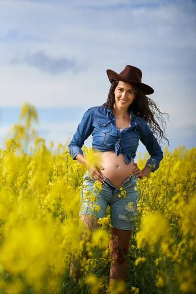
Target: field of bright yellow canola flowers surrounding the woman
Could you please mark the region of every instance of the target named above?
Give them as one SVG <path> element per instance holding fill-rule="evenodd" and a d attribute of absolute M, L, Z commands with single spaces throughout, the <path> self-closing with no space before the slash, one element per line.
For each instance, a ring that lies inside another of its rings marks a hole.
<path fill-rule="evenodd" d="M 25 104 L 0 149 L 0 294 L 196 293 L 196 147 L 165 148 L 160 168 L 139 180 L 126 288 L 109 288 L 109 208 L 100 228 L 81 236 L 85 168 L 67 146 L 47 147 L 33 129 L 37 120 Z M 137 163 L 143 168 L 146 158 Z M 80 260 L 78 283 L 70 278 L 72 254 Z"/>

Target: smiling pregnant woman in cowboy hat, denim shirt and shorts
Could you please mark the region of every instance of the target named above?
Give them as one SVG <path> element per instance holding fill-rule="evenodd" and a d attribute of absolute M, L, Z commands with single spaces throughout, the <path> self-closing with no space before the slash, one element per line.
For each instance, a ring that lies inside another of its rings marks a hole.
<path fill-rule="evenodd" d="M 111 82 L 107 102 L 85 112 L 69 144 L 69 151 L 73 159 L 87 168 L 81 192 L 80 219 L 89 229 L 92 226 L 96 228 L 98 218 L 102 218 L 107 206 L 110 206 L 110 247 L 111 257 L 115 259 L 115 264 L 110 269 L 112 283 L 118 279 L 126 279 L 126 256 L 139 200 L 139 191 L 134 186 L 138 178 L 143 179 L 149 172 L 158 169 L 163 152 L 156 138 L 158 135 L 160 139 L 167 138 L 164 126 L 162 130 L 155 119 L 157 117 L 160 123 L 165 124 L 163 113 L 146 96 L 154 90 L 142 83 L 141 70 L 127 65 L 121 73 L 107 70 L 107 75 Z M 91 134 L 94 163 L 86 160 L 81 149 Z M 134 163 L 139 140 L 150 154 L 142 170 Z M 93 192 L 96 180 L 102 186 L 96 200 L 96 204 L 100 206 L 99 211 L 95 211 L 89 205 L 89 200 L 83 197 L 86 191 Z M 119 197 L 121 188 L 126 191 L 125 197 Z M 71 270 L 73 274 L 74 258 Z"/>

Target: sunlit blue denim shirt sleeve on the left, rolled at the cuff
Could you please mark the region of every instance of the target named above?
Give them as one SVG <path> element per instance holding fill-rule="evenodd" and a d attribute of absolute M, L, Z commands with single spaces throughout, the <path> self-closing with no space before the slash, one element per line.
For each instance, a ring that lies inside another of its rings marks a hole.
<path fill-rule="evenodd" d="M 68 145 L 70 155 L 73 160 L 75 156 L 79 153 L 83 154 L 82 146 L 84 145 L 84 141 L 91 135 L 93 130 L 93 114 L 92 108 L 89 108 L 85 114 L 81 122 L 78 124 L 77 130 L 73 135 L 73 139 Z"/>

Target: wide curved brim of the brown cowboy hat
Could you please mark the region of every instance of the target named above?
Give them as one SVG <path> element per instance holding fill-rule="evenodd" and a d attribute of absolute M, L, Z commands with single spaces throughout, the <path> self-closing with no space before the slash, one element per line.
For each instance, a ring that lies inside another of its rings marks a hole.
<path fill-rule="evenodd" d="M 154 93 L 154 90 L 150 86 L 148 86 L 147 84 L 140 83 L 140 82 L 137 82 L 134 80 L 125 79 L 122 76 L 120 76 L 118 73 L 116 73 L 112 70 L 107 70 L 106 73 L 107 73 L 107 76 L 109 78 L 110 83 L 112 83 L 113 80 L 125 81 L 130 84 L 134 84 L 134 85 L 138 86 L 138 88 L 140 88 L 144 92 L 145 95 L 150 95 L 150 94 Z"/>

